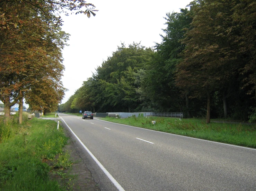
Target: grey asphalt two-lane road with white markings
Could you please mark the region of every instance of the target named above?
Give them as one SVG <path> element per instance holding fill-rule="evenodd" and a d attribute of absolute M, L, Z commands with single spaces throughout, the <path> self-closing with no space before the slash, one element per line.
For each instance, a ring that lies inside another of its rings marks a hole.
<path fill-rule="evenodd" d="M 256 190 L 256 149 L 59 116 L 85 145 L 101 190 Z"/>

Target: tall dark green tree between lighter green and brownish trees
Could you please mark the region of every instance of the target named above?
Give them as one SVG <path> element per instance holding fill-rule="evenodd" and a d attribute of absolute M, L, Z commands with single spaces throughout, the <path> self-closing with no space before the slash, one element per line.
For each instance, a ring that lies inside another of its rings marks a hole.
<path fill-rule="evenodd" d="M 183 110 L 183 95 L 180 95 L 181 89 L 175 86 L 174 71 L 181 60 L 179 53 L 185 48 L 180 40 L 184 38 L 192 21 L 188 13 L 187 9 L 180 9 L 180 13 L 166 14 L 167 27 L 163 29 L 165 36 L 161 36 L 162 42 L 156 44 L 156 52 L 152 54 L 143 78 L 142 91 L 164 111 Z"/>

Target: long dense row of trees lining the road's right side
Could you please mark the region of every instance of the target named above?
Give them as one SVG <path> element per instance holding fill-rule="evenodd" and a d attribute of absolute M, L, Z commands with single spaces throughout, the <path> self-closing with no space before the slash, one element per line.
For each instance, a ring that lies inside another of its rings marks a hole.
<path fill-rule="evenodd" d="M 196 0 L 189 7 L 166 14 L 154 50 L 121 44 L 59 110 L 255 120 L 255 1 Z"/>

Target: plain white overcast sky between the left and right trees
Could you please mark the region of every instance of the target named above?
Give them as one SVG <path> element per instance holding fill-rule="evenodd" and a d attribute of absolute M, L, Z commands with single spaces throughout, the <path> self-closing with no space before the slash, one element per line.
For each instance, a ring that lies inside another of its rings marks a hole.
<path fill-rule="evenodd" d="M 153 47 L 161 42 L 168 12 L 179 12 L 192 0 L 88 0 L 99 11 L 90 19 L 84 14 L 62 16 L 62 29 L 71 34 L 70 46 L 63 50 L 63 86 L 69 89 L 62 103 L 92 76 L 103 60 L 112 56 L 121 42 L 140 42 Z"/>

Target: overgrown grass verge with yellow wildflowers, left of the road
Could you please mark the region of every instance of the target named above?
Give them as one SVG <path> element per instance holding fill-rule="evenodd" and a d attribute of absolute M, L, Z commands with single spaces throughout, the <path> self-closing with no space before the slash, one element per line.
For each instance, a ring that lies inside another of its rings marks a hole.
<path fill-rule="evenodd" d="M 18 124 L 16 115 L 9 120 L 0 117 L 0 190 L 65 190 L 49 178 L 51 167 L 45 161 L 54 161 L 60 154 L 56 165 L 68 167 L 68 155 L 62 153 L 67 140 L 55 121 L 24 116 Z"/>

